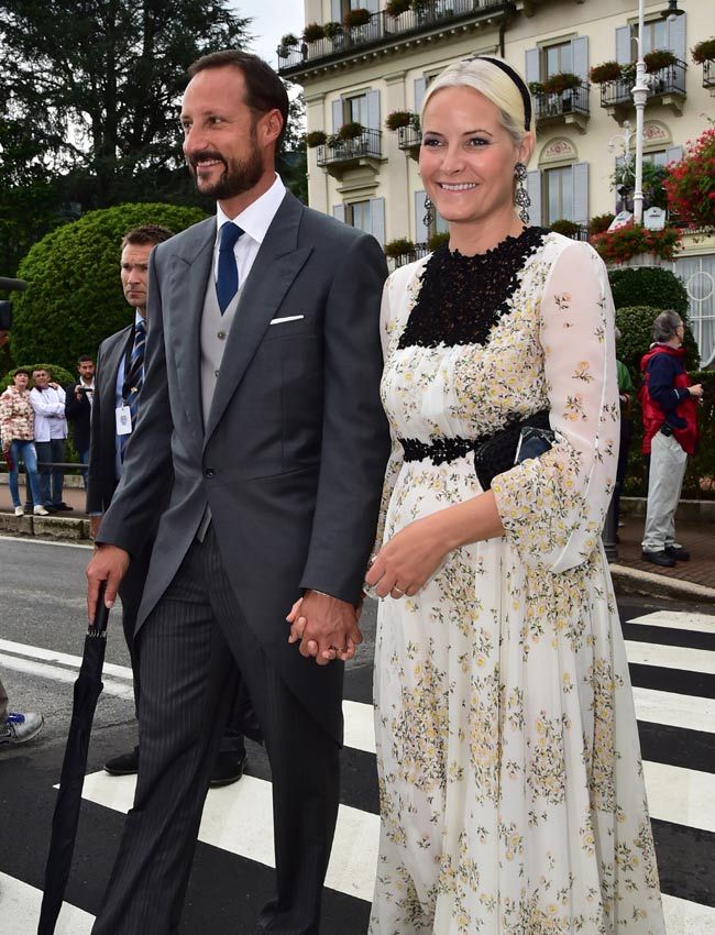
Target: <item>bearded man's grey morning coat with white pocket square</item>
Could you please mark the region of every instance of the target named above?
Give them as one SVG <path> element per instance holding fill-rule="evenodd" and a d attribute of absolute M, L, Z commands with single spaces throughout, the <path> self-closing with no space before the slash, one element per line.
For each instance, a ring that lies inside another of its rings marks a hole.
<path fill-rule="evenodd" d="M 215 239 L 211 218 L 152 253 L 142 405 L 98 541 L 136 553 L 173 470 L 138 630 L 209 506 L 241 614 L 340 741 L 343 667 L 304 659 L 285 615 L 300 588 L 360 597 L 389 451 L 385 260 L 372 237 L 286 194 L 243 286 L 205 426 L 199 328 Z"/>

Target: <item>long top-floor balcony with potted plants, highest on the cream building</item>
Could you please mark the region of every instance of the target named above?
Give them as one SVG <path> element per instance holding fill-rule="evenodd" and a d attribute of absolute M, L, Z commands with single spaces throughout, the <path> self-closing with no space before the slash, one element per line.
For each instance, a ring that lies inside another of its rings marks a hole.
<path fill-rule="evenodd" d="M 505 0 L 413 0 L 409 9 L 398 15 L 380 10 L 371 13 L 364 24 L 334 24 L 330 36 L 300 45 L 279 46 L 278 74 L 295 78 L 312 68 L 346 61 L 364 51 L 393 45 L 402 40 L 409 41 L 421 33 L 441 30 L 462 32 L 482 22 L 492 24 L 495 15 L 502 19 L 513 9 L 514 4 Z"/>

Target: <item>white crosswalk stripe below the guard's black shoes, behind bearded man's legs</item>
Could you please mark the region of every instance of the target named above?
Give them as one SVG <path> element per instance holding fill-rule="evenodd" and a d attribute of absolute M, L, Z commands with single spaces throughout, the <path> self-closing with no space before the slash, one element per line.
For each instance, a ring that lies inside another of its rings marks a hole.
<path fill-rule="evenodd" d="M 135 785 L 135 777 L 95 772 L 85 779 L 82 798 L 127 813 L 134 801 Z M 371 900 L 378 839 L 378 815 L 340 805 L 326 886 L 361 900 Z M 199 840 L 275 867 L 271 783 L 244 776 L 234 785 L 211 789 L 201 816 Z"/>

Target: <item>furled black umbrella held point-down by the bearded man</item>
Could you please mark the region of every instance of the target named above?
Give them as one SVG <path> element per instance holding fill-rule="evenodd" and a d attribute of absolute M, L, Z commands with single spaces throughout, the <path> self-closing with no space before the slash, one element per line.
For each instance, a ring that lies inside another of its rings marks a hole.
<path fill-rule="evenodd" d="M 69 877 L 79 821 L 81 788 L 87 769 L 89 734 L 97 698 L 103 689 L 102 666 L 107 646 L 108 617 L 109 610 L 105 606 L 105 585 L 102 584 L 97 602 L 97 615 L 87 630 L 85 653 L 75 682 L 72 722 L 59 777 L 59 793 L 52 820 L 50 854 L 45 867 L 45 892 L 42 898 L 37 935 L 53 935 Z"/>

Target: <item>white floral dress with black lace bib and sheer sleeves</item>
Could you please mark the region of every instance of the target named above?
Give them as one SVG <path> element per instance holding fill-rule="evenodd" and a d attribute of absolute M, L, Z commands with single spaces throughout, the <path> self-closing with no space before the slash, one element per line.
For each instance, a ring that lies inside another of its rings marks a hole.
<path fill-rule="evenodd" d="M 502 538 L 381 602 L 371 935 L 664 935 L 601 544 L 613 331 L 595 252 L 537 228 L 387 280 L 385 540 L 481 493 L 470 440 L 548 408 L 557 442 L 494 479 Z"/>

